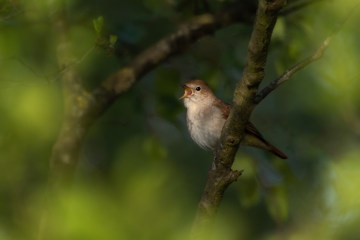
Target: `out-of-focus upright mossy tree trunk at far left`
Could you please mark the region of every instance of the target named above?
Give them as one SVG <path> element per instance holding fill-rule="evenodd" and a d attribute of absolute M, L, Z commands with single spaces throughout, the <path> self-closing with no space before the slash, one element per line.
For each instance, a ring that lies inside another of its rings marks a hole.
<path fill-rule="evenodd" d="M 73 46 L 69 37 L 65 2 L 62 0 L 50 1 L 50 16 L 57 40 L 57 55 L 59 68 L 73 63 Z M 80 77 L 76 67 L 71 68 L 62 76 L 64 119 L 59 137 L 53 146 L 50 158 L 50 172 L 48 192 L 46 196 L 45 211 L 42 215 L 39 231 L 41 239 L 62 239 L 61 219 L 52 216 L 64 216 L 59 214 L 60 198 L 64 191 L 69 189 L 77 166 L 79 149 L 89 124 L 81 122 L 86 98 L 89 94 L 81 87 Z M 56 213 L 55 213 L 56 212 Z M 60 225 L 59 225 L 60 224 Z"/>

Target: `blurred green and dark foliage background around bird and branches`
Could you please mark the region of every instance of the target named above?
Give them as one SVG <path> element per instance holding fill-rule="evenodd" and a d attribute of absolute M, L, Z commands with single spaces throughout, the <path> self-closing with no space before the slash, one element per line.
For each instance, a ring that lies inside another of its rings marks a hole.
<path fill-rule="evenodd" d="M 104 34 L 118 36 L 111 57 L 94 50 L 78 65 L 85 88 L 93 90 L 180 23 L 229 3 L 68 0 L 77 59 L 94 45 L 93 19 L 103 16 Z M 352 4 L 317 1 L 279 17 L 260 89 L 314 53 Z M 37 238 L 62 123 L 62 85 L 18 86 L 46 83 L 39 76 L 59 71 L 48 1 L 0 6 L 0 239 L 29 240 Z M 289 159 L 239 149 L 233 169 L 244 172 L 225 191 L 211 239 L 360 239 L 359 10 L 322 59 L 255 108 L 251 121 Z M 202 79 L 231 103 L 251 32 L 252 25 L 234 23 L 204 37 L 116 101 L 82 147 L 58 231 L 69 240 L 188 238 L 212 153 L 190 138 L 177 83 Z"/>

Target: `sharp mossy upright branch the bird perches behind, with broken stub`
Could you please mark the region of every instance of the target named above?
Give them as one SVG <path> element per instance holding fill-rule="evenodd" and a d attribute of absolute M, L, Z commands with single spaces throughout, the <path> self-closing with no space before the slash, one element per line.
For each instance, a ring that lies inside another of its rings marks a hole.
<path fill-rule="evenodd" d="M 285 5 L 286 0 L 259 0 L 244 71 L 234 92 L 229 117 L 222 128 L 218 150 L 204 193 L 198 204 L 190 239 L 207 239 L 209 237 L 224 191 L 233 181 L 237 180 L 242 172 L 233 171 L 231 166 L 238 151 L 244 128 L 256 107 L 253 101 L 264 77 L 271 34 L 278 12 Z"/>

